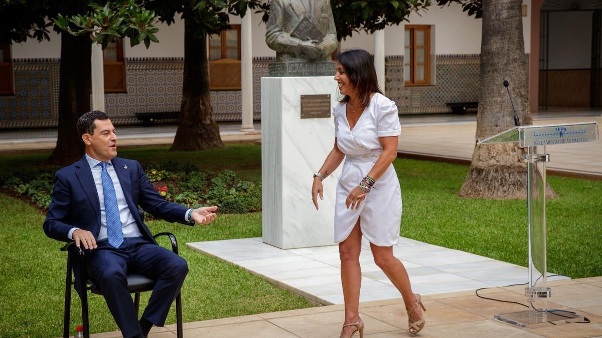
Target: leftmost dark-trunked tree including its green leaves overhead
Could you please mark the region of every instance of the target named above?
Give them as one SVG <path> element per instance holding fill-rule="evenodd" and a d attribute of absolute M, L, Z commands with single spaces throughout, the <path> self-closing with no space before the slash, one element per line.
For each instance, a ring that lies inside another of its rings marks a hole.
<path fill-rule="evenodd" d="M 144 41 L 148 48 L 158 41 L 155 21 L 155 14 L 134 0 L 105 0 L 102 5 L 89 0 L 0 0 L 0 44 L 49 40 L 50 26 L 67 32 L 61 34 L 58 138 L 49 164 L 70 164 L 84 153 L 76 121 L 90 110 L 92 41 L 105 47 L 115 38 L 129 37 L 132 45 Z"/>

